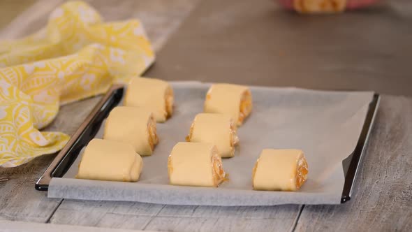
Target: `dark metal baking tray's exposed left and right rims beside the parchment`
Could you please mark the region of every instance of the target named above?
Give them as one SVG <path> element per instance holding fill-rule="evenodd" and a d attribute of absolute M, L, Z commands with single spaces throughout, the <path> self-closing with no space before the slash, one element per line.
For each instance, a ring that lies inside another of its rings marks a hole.
<path fill-rule="evenodd" d="M 78 131 L 74 133 L 71 140 L 68 141 L 68 144 L 57 154 L 52 164 L 36 182 L 36 189 L 46 191 L 52 177 L 63 177 L 78 157 L 78 154 L 80 154 L 80 150 L 89 143 L 89 140 L 96 136 L 98 129 L 101 127 L 105 117 L 110 113 L 110 110 L 122 100 L 123 92 L 124 88 L 122 85 L 114 85 L 109 89 L 108 93 L 103 96 L 103 99 L 99 101 L 87 119 L 80 125 Z M 374 94 L 371 103 L 369 103 L 369 109 L 355 150 L 343 161 L 345 182 L 341 194 L 341 203 L 349 201 L 353 195 L 353 184 L 355 183 L 362 156 L 365 153 L 371 127 L 374 124 L 378 103 L 379 95 Z"/>

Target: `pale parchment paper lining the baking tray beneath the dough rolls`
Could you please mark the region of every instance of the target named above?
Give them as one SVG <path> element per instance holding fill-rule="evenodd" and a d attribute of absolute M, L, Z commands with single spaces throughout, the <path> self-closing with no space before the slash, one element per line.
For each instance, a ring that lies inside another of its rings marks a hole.
<path fill-rule="evenodd" d="M 238 129 L 235 157 L 223 159 L 229 180 L 218 188 L 168 184 L 168 155 L 189 133 L 203 111 L 209 84 L 171 82 L 175 112 L 157 124 L 160 143 L 143 157 L 139 182 L 78 180 L 80 156 L 62 178 L 54 177 L 47 196 L 173 205 L 339 204 L 344 187 L 342 160 L 355 149 L 373 92 L 326 92 L 296 88 L 251 87 L 253 111 Z M 102 128 L 96 135 L 101 138 Z M 309 177 L 300 191 L 253 191 L 251 173 L 263 148 L 299 148 Z"/>

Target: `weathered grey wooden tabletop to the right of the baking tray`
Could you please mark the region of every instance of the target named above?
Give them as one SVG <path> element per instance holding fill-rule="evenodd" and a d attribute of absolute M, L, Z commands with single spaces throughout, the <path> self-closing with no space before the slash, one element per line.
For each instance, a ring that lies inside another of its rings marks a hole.
<path fill-rule="evenodd" d="M 297 231 L 412 231 L 412 99 L 383 96 L 355 194 L 305 205 Z"/>

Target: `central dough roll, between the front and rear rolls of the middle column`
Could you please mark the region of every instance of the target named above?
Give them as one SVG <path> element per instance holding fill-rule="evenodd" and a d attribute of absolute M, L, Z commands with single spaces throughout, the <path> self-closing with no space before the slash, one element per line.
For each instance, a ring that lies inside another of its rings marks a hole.
<path fill-rule="evenodd" d="M 188 142 L 212 143 L 222 158 L 233 157 L 239 141 L 236 126 L 228 115 L 200 113 L 191 124 Z"/>

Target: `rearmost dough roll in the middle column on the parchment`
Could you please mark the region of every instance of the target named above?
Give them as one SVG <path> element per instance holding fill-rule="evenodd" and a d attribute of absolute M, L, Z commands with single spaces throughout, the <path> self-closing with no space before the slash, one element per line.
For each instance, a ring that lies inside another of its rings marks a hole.
<path fill-rule="evenodd" d="M 252 95 L 247 86 L 214 84 L 206 94 L 205 113 L 229 115 L 237 126 L 242 125 L 251 110 Z"/>

